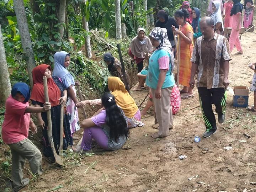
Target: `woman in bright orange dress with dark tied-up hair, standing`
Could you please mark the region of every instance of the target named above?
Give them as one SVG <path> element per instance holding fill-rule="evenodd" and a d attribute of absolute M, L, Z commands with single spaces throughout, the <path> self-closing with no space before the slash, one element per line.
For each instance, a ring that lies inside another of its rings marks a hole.
<path fill-rule="evenodd" d="M 174 14 L 175 20 L 180 25 L 180 30 L 176 31 L 175 27 L 172 27 L 174 34 L 179 35 L 180 38 L 180 74 L 179 83 L 183 85 L 183 89 L 180 90 L 181 98 L 193 97 L 193 90 L 189 86 L 191 75 L 191 56 L 193 52 L 193 27 L 186 22 L 186 18 L 189 17 L 189 13 L 186 9 L 177 10 Z"/>

